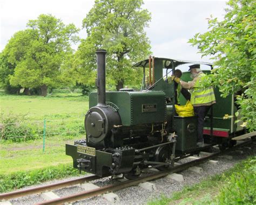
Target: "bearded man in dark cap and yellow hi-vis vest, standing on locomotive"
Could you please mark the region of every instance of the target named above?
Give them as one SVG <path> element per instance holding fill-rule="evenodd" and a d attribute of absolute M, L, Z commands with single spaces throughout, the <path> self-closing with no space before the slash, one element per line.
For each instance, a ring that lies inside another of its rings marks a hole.
<path fill-rule="evenodd" d="M 191 82 L 184 82 L 179 79 L 179 77 L 172 76 L 172 79 L 180 83 L 181 87 L 185 89 L 190 89 L 191 91 L 191 98 L 190 102 L 193 105 L 194 113 L 197 118 L 197 130 L 198 130 L 198 137 L 197 137 L 197 146 L 202 147 L 204 146 L 204 138 L 203 138 L 203 131 L 204 131 L 204 118 L 207 115 L 207 112 L 211 108 L 211 106 L 216 103 L 214 91 L 212 86 L 208 88 L 197 88 L 197 84 L 200 83 L 201 77 L 205 74 L 200 69 L 199 64 L 195 64 L 190 66 L 190 73 L 191 78 L 193 79 Z"/>

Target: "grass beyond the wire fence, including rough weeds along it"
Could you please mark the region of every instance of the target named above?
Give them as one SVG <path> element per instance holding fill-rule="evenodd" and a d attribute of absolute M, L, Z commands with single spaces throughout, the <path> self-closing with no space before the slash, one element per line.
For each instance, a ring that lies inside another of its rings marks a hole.
<path fill-rule="evenodd" d="M 84 130 L 84 115 L 89 108 L 88 97 L 77 93 L 42 97 L 0 92 L 0 101 L 0 123 L 4 124 L 2 138 L 14 142 L 42 138 L 44 119 L 47 136 L 78 135 Z"/>

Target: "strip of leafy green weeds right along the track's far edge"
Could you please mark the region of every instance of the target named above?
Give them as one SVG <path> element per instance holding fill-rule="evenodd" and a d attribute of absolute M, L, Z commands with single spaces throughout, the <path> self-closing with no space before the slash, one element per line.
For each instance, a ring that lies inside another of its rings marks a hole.
<path fill-rule="evenodd" d="M 50 166 L 33 171 L 19 171 L 11 174 L 1 174 L 0 193 L 9 192 L 13 189 L 19 189 L 25 186 L 36 185 L 47 180 L 76 175 L 78 175 L 77 169 L 70 165 Z"/>

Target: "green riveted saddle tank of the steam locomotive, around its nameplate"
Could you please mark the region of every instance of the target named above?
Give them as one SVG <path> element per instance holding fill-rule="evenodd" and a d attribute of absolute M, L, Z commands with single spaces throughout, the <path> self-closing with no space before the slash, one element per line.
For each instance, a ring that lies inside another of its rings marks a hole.
<path fill-rule="evenodd" d="M 147 92 L 106 92 L 106 104 L 116 105 L 122 125 L 131 126 L 166 121 L 165 93 Z M 89 95 L 89 108 L 97 105 L 97 93 Z M 156 110 L 143 112 L 143 105 L 156 105 Z"/>

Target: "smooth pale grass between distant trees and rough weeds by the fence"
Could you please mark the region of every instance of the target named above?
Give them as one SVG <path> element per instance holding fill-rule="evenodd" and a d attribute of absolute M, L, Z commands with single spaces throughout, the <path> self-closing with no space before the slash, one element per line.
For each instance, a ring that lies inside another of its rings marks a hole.
<path fill-rule="evenodd" d="M 0 112 L 26 115 L 28 119 L 58 118 L 62 115 L 81 116 L 86 113 L 88 97 L 80 94 L 42 96 L 0 94 Z"/>

